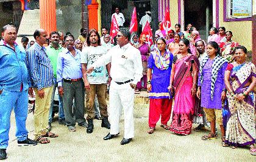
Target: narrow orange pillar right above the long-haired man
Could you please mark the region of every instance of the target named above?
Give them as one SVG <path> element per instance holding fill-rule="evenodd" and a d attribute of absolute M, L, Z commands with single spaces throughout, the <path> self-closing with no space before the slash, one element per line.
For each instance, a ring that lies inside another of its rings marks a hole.
<path fill-rule="evenodd" d="M 99 4 L 96 0 L 92 0 L 91 4 L 88 5 L 89 30 L 98 30 L 98 7 Z"/>

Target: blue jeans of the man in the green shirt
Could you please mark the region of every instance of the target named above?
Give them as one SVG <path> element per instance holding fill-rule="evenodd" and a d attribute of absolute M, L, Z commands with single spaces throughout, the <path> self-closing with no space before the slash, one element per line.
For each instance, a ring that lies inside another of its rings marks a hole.
<path fill-rule="evenodd" d="M 56 78 L 54 77 L 54 87 L 52 90 L 52 97 L 51 97 L 51 107 L 49 110 L 49 119 L 48 122 L 52 122 L 52 110 L 53 110 L 53 105 L 54 105 L 54 96 L 55 96 L 55 91 L 58 91 L 58 83 Z M 62 96 L 59 96 L 59 120 L 65 120 L 65 114 L 64 114 L 64 110 L 63 110 L 63 101 L 62 101 Z"/>

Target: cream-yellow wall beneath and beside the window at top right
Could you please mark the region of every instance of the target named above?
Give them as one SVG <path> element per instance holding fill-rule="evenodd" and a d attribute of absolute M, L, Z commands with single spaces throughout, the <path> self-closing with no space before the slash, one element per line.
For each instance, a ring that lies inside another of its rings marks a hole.
<path fill-rule="evenodd" d="M 239 44 L 245 46 L 248 51 L 251 51 L 252 50 L 252 21 L 224 22 L 223 1 L 225 0 L 219 0 L 219 26 L 224 26 L 226 27 L 226 30 L 232 31 L 233 32 L 232 40 L 237 41 Z"/>

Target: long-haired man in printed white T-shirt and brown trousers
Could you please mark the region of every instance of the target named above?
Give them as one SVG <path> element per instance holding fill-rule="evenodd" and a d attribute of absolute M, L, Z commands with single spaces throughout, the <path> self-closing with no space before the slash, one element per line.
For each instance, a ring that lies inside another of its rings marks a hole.
<path fill-rule="evenodd" d="M 110 77 L 110 64 L 108 64 L 107 66 L 102 65 L 95 68 L 93 72 L 91 72 L 91 74 L 87 74 L 86 72 L 87 68 L 90 68 L 94 62 L 99 60 L 99 58 L 101 58 L 106 53 L 107 48 L 105 48 L 105 46 L 101 46 L 99 33 L 96 29 L 91 29 L 87 36 L 87 47 L 83 49 L 81 57 L 82 74 L 84 78 L 86 93 L 89 99 L 87 104 L 87 133 L 93 133 L 93 104 L 96 94 L 98 97 L 99 110 L 102 117 L 101 127 L 110 129 L 110 124 L 108 122 L 107 102 L 105 100 L 105 94 L 107 91 L 107 80 L 108 77 Z"/>

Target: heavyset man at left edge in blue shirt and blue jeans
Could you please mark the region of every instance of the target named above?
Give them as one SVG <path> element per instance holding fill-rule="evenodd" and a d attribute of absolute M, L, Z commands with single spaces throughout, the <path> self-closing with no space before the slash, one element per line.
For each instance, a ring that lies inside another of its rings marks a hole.
<path fill-rule="evenodd" d="M 16 27 L 3 27 L 0 41 L 0 160 L 7 158 L 10 115 L 12 108 L 16 119 L 18 146 L 36 145 L 37 141 L 27 138 L 26 119 L 30 79 L 27 73 L 26 53 L 15 43 Z"/>

